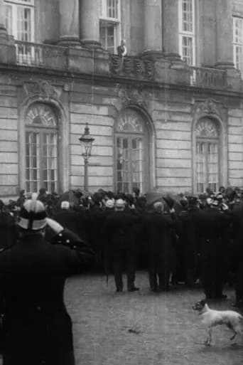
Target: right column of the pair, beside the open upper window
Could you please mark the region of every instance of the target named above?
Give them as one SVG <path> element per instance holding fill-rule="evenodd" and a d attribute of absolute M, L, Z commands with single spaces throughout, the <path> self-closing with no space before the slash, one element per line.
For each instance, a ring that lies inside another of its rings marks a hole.
<path fill-rule="evenodd" d="M 100 48 L 99 42 L 99 9 L 100 0 L 81 0 L 80 2 L 80 35 L 81 43 L 88 48 Z"/>

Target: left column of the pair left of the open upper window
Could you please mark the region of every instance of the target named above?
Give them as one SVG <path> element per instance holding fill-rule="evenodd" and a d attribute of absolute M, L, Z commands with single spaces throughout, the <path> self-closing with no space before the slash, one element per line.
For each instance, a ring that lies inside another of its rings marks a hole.
<path fill-rule="evenodd" d="M 60 46 L 80 46 L 79 0 L 60 0 Z"/>

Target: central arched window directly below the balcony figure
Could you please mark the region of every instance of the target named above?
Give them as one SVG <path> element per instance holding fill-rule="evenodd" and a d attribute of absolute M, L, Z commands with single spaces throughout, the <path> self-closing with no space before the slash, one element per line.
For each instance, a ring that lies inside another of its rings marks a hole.
<path fill-rule="evenodd" d="M 127 108 L 121 112 L 115 131 L 116 189 L 131 193 L 148 188 L 148 129 L 144 117 Z"/>

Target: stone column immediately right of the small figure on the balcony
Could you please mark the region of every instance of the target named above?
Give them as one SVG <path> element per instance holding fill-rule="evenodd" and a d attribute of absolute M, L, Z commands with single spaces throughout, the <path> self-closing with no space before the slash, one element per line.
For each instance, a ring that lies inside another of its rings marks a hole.
<path fill-rule="evenodd" d="M 162 54 L 161 0 L 144 0 L 144 53 Z"/>

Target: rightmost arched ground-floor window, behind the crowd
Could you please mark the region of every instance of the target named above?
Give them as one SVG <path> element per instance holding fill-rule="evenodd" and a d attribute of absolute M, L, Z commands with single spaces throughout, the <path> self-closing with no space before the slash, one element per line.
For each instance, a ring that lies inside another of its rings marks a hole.
<path fill-rule="evenodd" d="M 215 122 L 202 118 L 196 127 L 197 192 L 219 187 L 219 132 Z"/>

